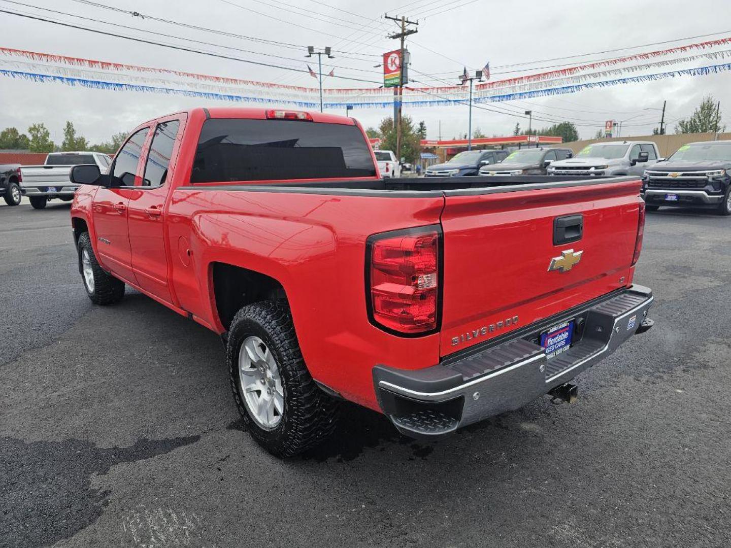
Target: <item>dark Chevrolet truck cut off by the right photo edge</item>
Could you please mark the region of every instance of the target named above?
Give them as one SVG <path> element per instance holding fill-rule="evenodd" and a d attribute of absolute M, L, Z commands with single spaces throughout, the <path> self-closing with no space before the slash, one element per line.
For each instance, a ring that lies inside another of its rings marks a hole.
<path fill-rule="evenodd" d="M 709 208 L 731 215 L 731 141 L 691 142 L 643 173 L 648 210 Z"/>

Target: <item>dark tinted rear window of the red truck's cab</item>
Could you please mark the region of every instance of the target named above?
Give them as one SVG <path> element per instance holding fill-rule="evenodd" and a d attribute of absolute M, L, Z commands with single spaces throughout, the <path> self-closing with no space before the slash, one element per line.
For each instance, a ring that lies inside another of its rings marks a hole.
<path fill-rule="evenodd" d="M 200 132 L 191 182 L 375 175 L 371 147 L 357 126 L 211 118 Z"/>

